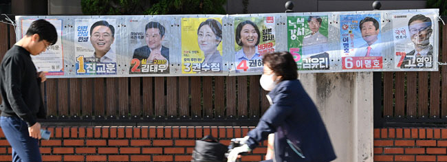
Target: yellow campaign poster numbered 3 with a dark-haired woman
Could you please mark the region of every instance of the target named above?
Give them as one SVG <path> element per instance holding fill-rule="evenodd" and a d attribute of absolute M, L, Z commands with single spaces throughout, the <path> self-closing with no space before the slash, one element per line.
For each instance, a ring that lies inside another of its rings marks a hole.
<path fill-rule="evenodd" d="M 222 73 L 222 19 L 182 18 L 182 73 Z"/>

